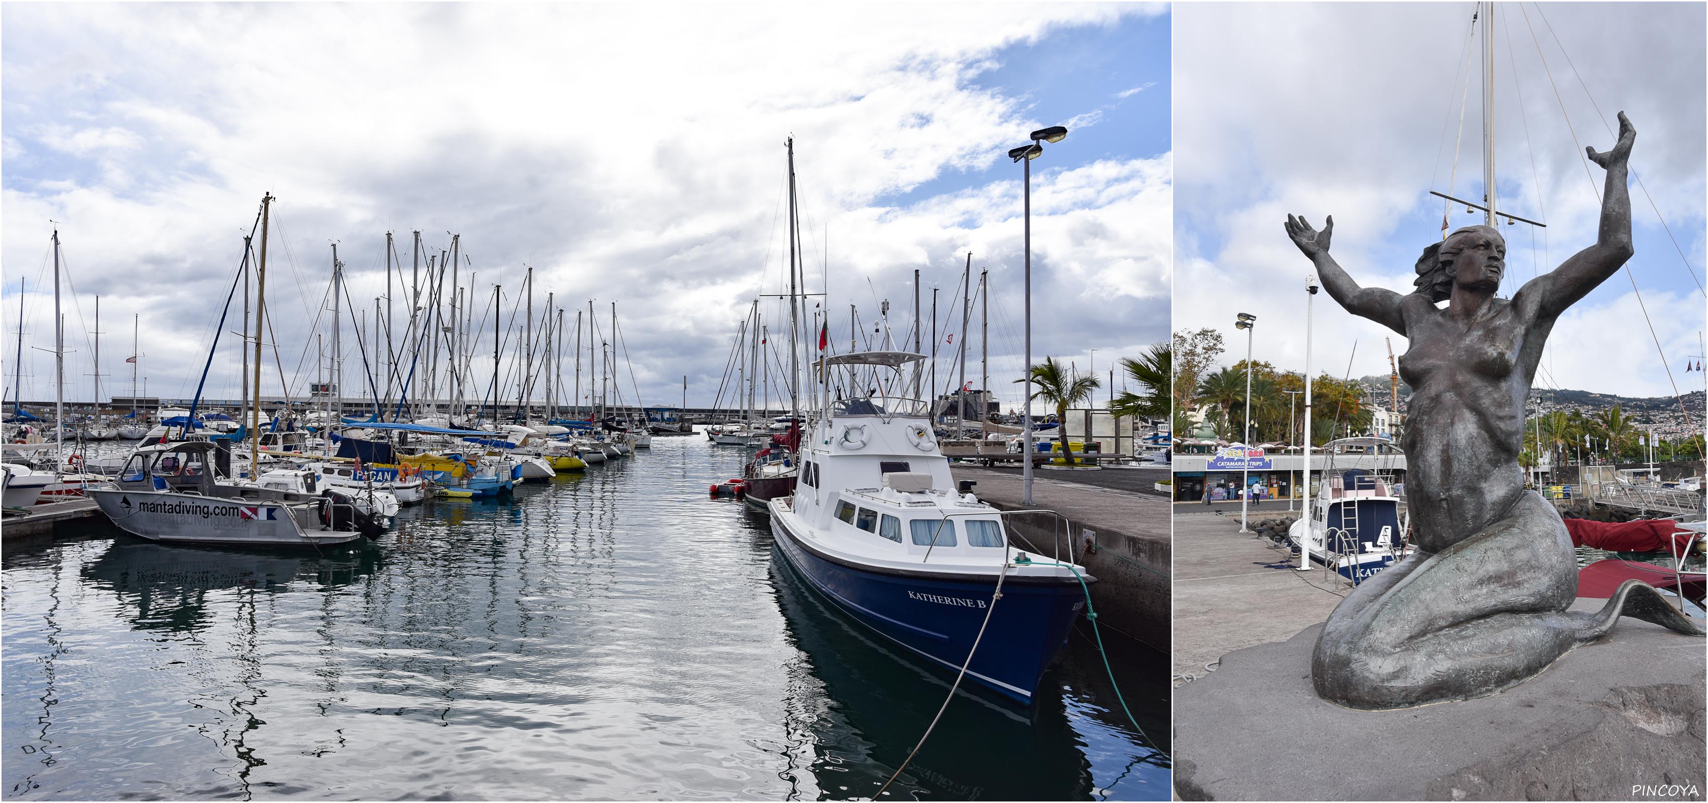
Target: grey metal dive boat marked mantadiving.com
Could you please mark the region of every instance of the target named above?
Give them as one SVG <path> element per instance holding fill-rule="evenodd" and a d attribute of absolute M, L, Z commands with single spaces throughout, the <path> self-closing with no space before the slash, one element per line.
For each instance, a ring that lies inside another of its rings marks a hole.
<path fill-rule="evenodd" d="M 357 511 L 331 496 L 220 482 L 208 442 L 138 447 L 120 477 L 89 496 L 114 525 L 149 540 L 330 546 L 360 539 Z"/>

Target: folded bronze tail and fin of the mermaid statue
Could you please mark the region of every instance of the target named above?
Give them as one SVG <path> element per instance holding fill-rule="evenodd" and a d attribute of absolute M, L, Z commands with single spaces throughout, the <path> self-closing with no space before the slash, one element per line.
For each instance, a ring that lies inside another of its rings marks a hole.
<path fill-rule="evenodd" d="M 1621 585 L 1594 614 L 1566 610 L 1576 592 L 1571 537 L 1529 491 L 1476 535 L 1414 552 L 1348 593 L 1317 638 L 1312 682 L 1341 706 L 1409 708 L 1518 685 L 1621 615 L 1703 634 L 1643 583 Z"/>

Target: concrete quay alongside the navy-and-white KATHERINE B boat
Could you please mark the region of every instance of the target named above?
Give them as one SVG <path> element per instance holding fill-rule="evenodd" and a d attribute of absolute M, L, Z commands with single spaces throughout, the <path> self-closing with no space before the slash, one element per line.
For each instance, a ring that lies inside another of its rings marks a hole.
<path fill-rule="evenodd" d="M 1091 585 L 1091 604 L 1100 626 L 1165 653 L 1170 650 L 1168 500 L 1074 482 L 1078 472 L 1057 477 L 1057 472 L 1038 471 L 1032 484 L 1033 505 L 1021 505 L 1018 472 L 967 464 L 953 464 L 951 472 L 956 482 L 977 482 L 974 493 L 997 510 L 1054 510 L 1066 517 L 1061 523 L 1040 513 L 1004 518 L 1045 556 L 1061 549 L 1066 559 L 1073 551 L 1073 559 L 1098 580 Z"/>

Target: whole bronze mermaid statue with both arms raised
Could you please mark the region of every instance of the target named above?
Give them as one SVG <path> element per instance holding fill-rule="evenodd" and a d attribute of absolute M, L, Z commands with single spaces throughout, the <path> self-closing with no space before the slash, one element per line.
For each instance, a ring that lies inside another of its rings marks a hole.
<path fill-rule="evenodd" d="M 1594 246 L 1498 298 L 1500 230 L 1472 225 L 1423 251 L 1416 290 L 1358 286 L 1319 232 L 1288 215 L 1286 234 L 1341 307 L 1409 339 L 1399 373 L 1413 396 L 1402 436 L 1416 552 L 1363 581 L 1334 609 L 1312 656 L 1317 694 L 1360 709 L 1483 697 L 1547 668 L 1612 629 L 1619 615 L 1701 636 L 1652 586 L 1626 581 L 1599 612 L 1566 610 L 1576 557 L 1559 513 L 1525 489 L 1518 452 L 1525 399 L 1554 321 L 1631 257 L 1626 164 L 1636 130 L 1619 113 Z M 1440 302 L 1447 307 L 1436 307 Z"/>

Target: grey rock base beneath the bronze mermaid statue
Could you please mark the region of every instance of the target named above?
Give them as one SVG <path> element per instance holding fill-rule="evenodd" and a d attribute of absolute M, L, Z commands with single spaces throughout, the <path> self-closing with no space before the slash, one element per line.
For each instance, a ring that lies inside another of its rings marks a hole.
<path fill-rule="evenodd" d="M 1180 800 L 1703 800 L 1701 638 L 1626 617 L 1501 694 L 1354 711 L 1312 689 L 1320 631 L 1228 653 L 1175 690 Z"/>

